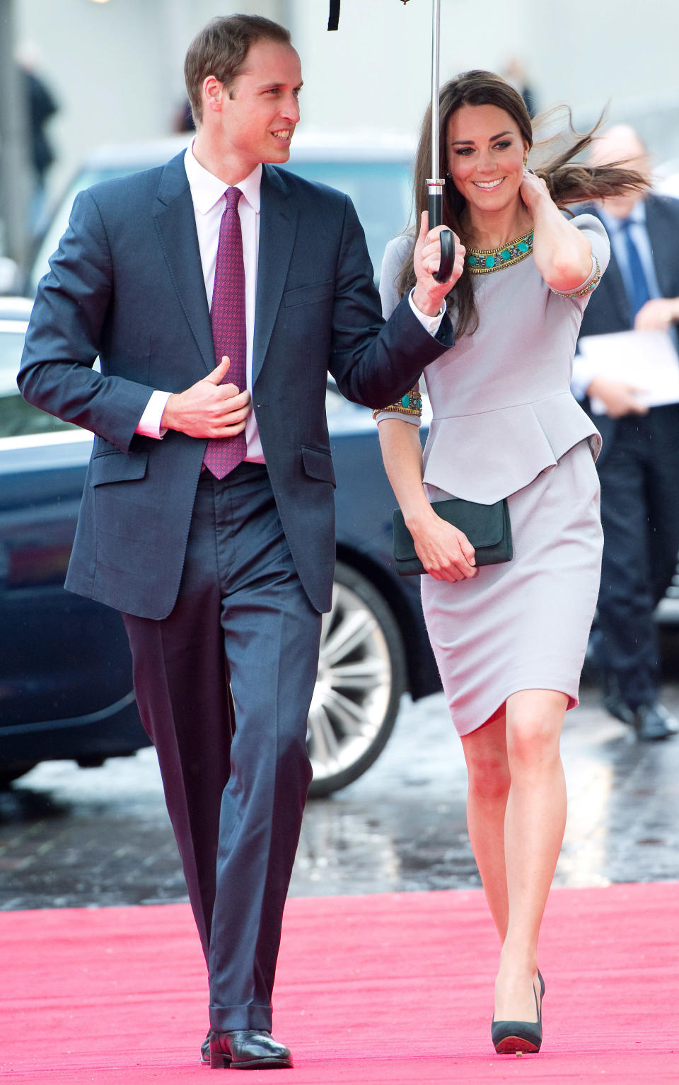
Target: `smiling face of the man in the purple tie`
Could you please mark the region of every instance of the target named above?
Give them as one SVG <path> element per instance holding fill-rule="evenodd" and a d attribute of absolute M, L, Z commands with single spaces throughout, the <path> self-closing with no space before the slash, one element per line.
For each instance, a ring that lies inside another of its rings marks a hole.
<path fill-rule="evenodd" d="M 220 154 L 246 177 L 260 162 L 287 162 L 299 120 L 299 58 L 292 46 L 256 41 L 241 74 L 223 89 L 214 132 Z"/>

